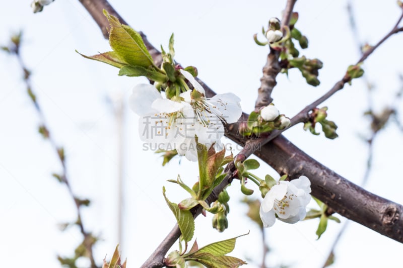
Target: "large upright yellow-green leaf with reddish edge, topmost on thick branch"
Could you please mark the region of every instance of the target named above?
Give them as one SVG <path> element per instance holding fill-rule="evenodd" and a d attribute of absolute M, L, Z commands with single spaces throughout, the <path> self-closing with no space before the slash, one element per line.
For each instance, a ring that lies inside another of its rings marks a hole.
<path fill-rule="evenodd" d="M 110 24 L 109 44 L 113 51 L 125 62 L 133 66 L 155 66 L 141 35 L 104 10 Z M 156 66 L 155 66 L 156 67 Z"/>

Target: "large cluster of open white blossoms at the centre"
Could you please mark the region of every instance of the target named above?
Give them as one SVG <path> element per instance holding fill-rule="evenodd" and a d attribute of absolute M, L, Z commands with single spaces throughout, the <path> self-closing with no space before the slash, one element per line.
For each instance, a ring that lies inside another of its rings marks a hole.
<path fill-rule="evenodd" d="M 193 76 L 181 70 L 197 94 L 186 91 L 180 98 L 162 98 L 150 84 L 138 84 L 130 96 L 131 109 L 140 115 L 139 132 L 152 149 L 174 150 L 191 161 L 197 160 L 197 142 L 221 149 L 226 123 L 236 122 L 242 114 L 240 99 L 232 93 L 211 99 Z"/>

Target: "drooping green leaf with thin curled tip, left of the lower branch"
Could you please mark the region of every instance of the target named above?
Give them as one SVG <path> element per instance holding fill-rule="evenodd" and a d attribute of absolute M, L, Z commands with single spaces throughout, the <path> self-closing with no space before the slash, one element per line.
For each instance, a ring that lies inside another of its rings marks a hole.
<path fill-rule="evenodd" d="M 192 239 L 194 233 L 193 215 L 188 210 L 180 210 L 177 204 L 170 202 L 165 196 L 165 187 L 162 188 L 162 194 L 164 195 L 168 207 L 175 215 L 176 221 L 179 225 L 179 229 L 182 233 L 183 240 L 185 240 L 185 242 L 189 242 Z"/>

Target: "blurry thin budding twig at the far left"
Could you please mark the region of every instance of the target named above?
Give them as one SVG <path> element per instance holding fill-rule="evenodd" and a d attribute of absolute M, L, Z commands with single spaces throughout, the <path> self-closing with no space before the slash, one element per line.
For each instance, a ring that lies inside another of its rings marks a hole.
<path fill-rule="evenodd" d="M 89 258 L 89 260 L 91 262 L 91 268 L 98 268 L 98 266 L 96 265 L 95 259 L 94 259 L 93 248 L 92 248 L 94 238 L 93 238 L 92 234 L 87 232 L 86 229 L 84 228 L 83 220 L 82 220 L 82 217 L 81 217 L 82 202 L 81 202 L 81 199 L 79 199 L 73 193 L 73 190 L 71 188 L 71 185 L 70 185 L 70 182 L 69 182 L 69 179 L 68 179 L 68 176 L 67 176 L 68 172 L 67 172 L 67 168 L 66 168 L 64 150 L 63 150 L 62 147 L 57 146 L 57 143 L 54 140 L 53 135 L 51 135 L 50 130 L 49 130 L 48 125 L 47 125 L 46 120 L 45 120 L 45 115 L 44 115 L 44 113 L 43 113 L 43 111 L 42 111 L 42 109 L 41 109 L 41 107 L 40 107 L 40 105 L 39 105 L 39 103 L 37 101 L 37 97 L 36 97 L 34 91 L 32 90 L 32 84 L 31 84 L 31 81 L 30 81 L 31 73 L 28 70 L 28 68 L 26 67 L 26 65 L 25 65 L 25 63 L 24 63 L 24 61 L 22 59 L 21 53 L 20 53 L 21 34 L 19 35 L 18 39 L 19 39 L 18 42 L 13 42 L 13 45 L 11 45 L 9 47 L 8 52 L 10 54 L 16 56 L 16 58 L 18 60 L 18 63 L 19 63 L 19 65 L 20 65 L 20 67 L 21 67 L 21 69 L 22 69 L 22 71 L 24 73 L 24 79 L 23 80 L 24 80 L 25 85 L 27 87 L 27 93 L 28 93 L 28 95 L 30 97 L 30 100 L 32 101 L 32 104 L 35 107 L 35 110 L 36 110 L 36 112 L 37 112 L 37 114 L 39 116 L 40 122 L 41 122 L 40 123 L 40 132 L 41 132 L 42 136 L 49 141 L 49 143 L 52 146 L 52 148 L 54 149 L 54 151 L 55 151 L 55 153 L 57 155 L 57 159 L 59 160 L 59 162 L 61 164 L 61 167 L 62 167 L 61 175 L 56 175 L 56 176 L 57 176 L 58 180 L 60 180 L 60 182 L 63 183 L 66 186 L 66 188 L 69 191 L 69 194 L 70 194 L 71 198 L 74 201 L 74 204 L 75 204 L 75 207 L 76 207 L 76 213 L 77 213 L 77 221 L 75 222 L 75 224 L 77 224 L 79 226 L 80 232 L 84 236 L 83 244 L 86 247 L 86 250 L 87 250 L 87 253 L 88 253 L 88 258 Z"/>

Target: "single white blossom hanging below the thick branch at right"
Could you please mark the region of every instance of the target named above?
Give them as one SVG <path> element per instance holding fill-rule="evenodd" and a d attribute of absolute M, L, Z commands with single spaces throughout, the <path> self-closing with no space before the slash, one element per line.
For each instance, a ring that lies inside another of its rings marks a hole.
<path fill-rule="evenodd" d="M 311 182 L 306 176 L 296 180 L 280 181 L 267 192 L 260 205 L 260 218 L 264 227 L 279 220 L 296 223 L 306 216 L 306 206 L 311 200 Z"/>

